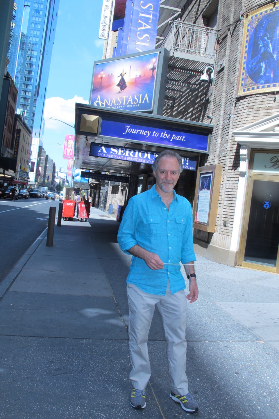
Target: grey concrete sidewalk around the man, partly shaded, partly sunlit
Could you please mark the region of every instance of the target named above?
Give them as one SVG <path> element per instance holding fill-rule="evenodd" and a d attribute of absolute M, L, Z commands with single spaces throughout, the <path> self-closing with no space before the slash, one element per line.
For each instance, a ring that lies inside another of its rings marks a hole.
<path fill-rule="evenodd" d="M 0 417 L 173 419 L 166 341 L 156 309 L 149 334 L 146 409 L 129 404 L 131 257 L 119 223 L 92 208 L 89 222 L 46 231 L 0 283 Z M 279 412 L 279 276 L 197 256 L 200 295 L 188 305 L 187 376 L 195 418 L 275 419 Z"/>

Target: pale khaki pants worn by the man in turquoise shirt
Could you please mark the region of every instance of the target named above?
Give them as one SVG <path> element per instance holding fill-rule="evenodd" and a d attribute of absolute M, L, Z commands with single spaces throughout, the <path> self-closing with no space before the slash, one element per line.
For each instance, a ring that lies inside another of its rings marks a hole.
<path fill-rule="evenodd" d="M 129 347 L 132 370 L 130 380 L 134 388 L 146 388 L 151 375 L 147 339 L 155 304 L 161 312 L 168 344 L 171 390 L 180 395 L 188 393 L 186 376 L 186 315 L 187 299 L 184 290 L 171 295 L 148 294 L 136 285 L 127 284 L 129 303 Z"/>

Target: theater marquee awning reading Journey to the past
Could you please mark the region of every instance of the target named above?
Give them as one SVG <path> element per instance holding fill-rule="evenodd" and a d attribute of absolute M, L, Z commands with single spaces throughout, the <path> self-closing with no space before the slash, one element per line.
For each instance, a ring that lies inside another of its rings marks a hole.
<path fill-rule="evenodd" d="M 212 129 L 211 124 L 76 103 L 74 166 L 127 174 L 141 163 L 144 172 L 154 153 L 165 148 L 194 161 L 209 153 Z"/>

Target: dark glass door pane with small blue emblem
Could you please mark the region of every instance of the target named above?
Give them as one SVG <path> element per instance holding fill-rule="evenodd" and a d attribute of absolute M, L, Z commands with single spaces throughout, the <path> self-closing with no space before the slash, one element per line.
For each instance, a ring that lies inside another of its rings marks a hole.
<path fill-rule="evenodd" d="M 279 245 L 279 182 L 253 181 L 245 262 L 276 266 Z"/>

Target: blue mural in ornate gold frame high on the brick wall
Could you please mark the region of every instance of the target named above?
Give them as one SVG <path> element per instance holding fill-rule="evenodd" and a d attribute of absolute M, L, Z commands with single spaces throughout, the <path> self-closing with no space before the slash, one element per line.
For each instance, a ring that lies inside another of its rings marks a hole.
<path fill-rule="evenodd" d="M 274 30 L 278 21 L 278 1 L 253 10 L 245 17 L 238 96 L 279 91 L 279 70 L 275 58 L 279 47 Z"/>

